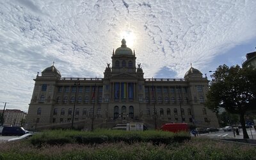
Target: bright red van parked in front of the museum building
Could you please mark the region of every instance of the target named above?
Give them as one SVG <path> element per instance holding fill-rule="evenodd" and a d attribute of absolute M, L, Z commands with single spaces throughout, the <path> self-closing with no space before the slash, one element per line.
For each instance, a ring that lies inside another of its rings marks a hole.
<path fill-rule="evenodd" d="M 164 124 L 161 130 L 169 132 L 189 132 L 189 127 L 186 123 Z"/>

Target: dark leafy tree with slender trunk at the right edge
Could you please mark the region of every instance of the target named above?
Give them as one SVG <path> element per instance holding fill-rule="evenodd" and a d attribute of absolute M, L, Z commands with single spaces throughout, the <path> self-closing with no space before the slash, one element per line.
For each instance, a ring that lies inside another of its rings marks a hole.
<path fill-rule="evenodd" d="M 225 108 L 228 113 L 239 115 L 243 127 L 243 138 L 249 138 L 244 114 L 256 109 L 256 70 L 253 67 L 241 68 L 239 65 L 222 65 L 212 74 L 205 106 L 218 113 Z"/>

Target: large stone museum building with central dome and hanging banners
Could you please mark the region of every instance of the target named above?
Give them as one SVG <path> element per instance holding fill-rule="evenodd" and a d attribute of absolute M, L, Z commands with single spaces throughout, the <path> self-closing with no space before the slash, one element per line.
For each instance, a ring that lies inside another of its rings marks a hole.
<path fill-rule="evenodd" d="M 37 74 L 26 129 L 90 130 L 129 122 L 149 129 L 178 122 L 219 127 L 216 114 L 204 106 L 209 81 L 196 68 L 184 79 L 144 78 L 124 39 L 111 59 L 103 78 L 61 77 L 54 65 Z"/>

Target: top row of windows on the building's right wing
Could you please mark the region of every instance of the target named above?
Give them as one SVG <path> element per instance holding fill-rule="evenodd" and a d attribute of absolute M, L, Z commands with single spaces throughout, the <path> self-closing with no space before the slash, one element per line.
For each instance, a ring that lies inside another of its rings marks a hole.
<path fill-rule="evenodd" d="M 178 92 L 183 92 L 183 93 L 188 93 L 188 87 L 168 87 L 168 86 L 164 86 L 164 87 L 161 87 L 161 86 L 157 86 L 157 87 L 145 87 L 145 93 L 148 93 L 148 92 L 151 92 L 151 93 L 175 93 Z"/>

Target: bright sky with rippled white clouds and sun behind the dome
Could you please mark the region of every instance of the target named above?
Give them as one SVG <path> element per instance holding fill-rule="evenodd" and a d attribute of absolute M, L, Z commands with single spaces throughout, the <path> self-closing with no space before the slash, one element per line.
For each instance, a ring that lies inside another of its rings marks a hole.
<path fill-rule="evenodd" d="M 209 77 L 255 51 L 255 13 L 253 0 L 2 0 L 0 102 L 28 111 L 52 61 L 62 77 L 103 77 L 123 37 L 145 77 L 183 78 L 190 63 Z"/>

